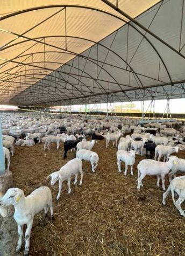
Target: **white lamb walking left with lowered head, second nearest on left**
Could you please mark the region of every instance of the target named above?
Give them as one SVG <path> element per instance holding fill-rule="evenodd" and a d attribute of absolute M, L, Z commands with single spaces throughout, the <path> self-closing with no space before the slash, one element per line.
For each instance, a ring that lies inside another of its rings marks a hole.
<path fill-rule="evenodd" d="M 51 186 L 53 186 L 57 181 L 59 181 L 59 192 L 56 197 L 56 200 L 59 200 L 60 198 L 62 182 L 67 181 L 68 193 L 70 193 L 71 192 L 70 178 L 75 174 L 75 181 L 74 181 L 74 185 L 75 185 L 77 183 L 77 177 L 79 172 L 81 174 L 81 179 L 80 179 L 80 186 L 81 186 L 83 181 L 82 161 L 78 158 L 74 158 L 69 162 L 67 162 L 65 165 L 63 165 L 59 171 L 53 172 L 46 178 L 46 179 L 48 179 L 49 177 L 52 178 Z"/>

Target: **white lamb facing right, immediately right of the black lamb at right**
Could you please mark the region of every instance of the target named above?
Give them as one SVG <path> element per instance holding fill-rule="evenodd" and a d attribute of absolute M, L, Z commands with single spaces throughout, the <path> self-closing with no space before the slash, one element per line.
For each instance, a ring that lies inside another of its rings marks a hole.
<path fill-rule="evenodd" d="M 179 148 L 178 147 L 171 147 L 171 146 L 163 146 L 163 145 L 158 145 L 155 148 L 155 160 L 157 155 L 158 156 L 158 161 L 160 161 L 161 156 L 164 156 L 163 162 L 165 162 L 166 158 L 168 158 L 172 153 L 178 153 Z"/>

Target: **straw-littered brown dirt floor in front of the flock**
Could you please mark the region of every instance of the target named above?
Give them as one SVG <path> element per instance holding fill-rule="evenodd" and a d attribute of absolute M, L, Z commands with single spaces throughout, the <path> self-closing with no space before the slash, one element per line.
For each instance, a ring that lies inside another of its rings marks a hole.
<path fill-rule="evenodd" d="M 17 147 L 11 158 L 14 185 L 25 195 L 42 185 L 50 187 L 46 177 L 75 157 L 68 151 L 63 160 L 63 146 L 56 150 L 52 144 L 50 151 L 43 146 Z M 99 155 L 99 165 L 93 173 L 90 163 L 83 162 L 81 187 L 79 177 L 68 195 L 64 182 L 56 202 L 58 184 L 53 186 L 54 222 L 45 220 L 44 212 L 35 216 L 31 255 L 184 255 L 185 218 L 171 196 L 163 206 L 156 177 L 145 177 L 144 188 L 137 190 L 137 164 L 144 157 L 136 156 L 134 176 L 129 171 L 125 177 L 118 173 L 115 147 L 106 149 L 105 141 L 98 141 L 93 150 Z M 177 156 L 185 154 L 180 151 Z"/>

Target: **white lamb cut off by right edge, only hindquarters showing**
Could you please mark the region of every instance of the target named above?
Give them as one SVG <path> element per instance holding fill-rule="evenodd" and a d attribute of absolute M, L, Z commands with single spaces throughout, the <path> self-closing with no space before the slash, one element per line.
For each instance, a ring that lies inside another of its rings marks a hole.
<path fill-rule="evenodd" d="M 176 177 L 170 182 L 167 191 L 163 193 L 163 205 L 166 205 L 166 197 L 170 192 L 172 193 L 172 199 L 175 207 L 177 208 L 177 210 L 179 210 L 181 215 L 185 217 L 185 213 L 181 208 L 181 204 L 184 202 L 185 199 L 185 176 Z M 179 196 L 176 202 L 174 198 L 174 192 L 177 193 L 177 195 Z"/>

